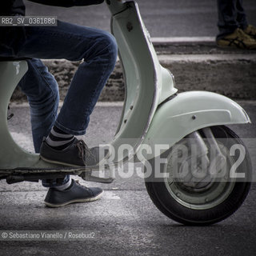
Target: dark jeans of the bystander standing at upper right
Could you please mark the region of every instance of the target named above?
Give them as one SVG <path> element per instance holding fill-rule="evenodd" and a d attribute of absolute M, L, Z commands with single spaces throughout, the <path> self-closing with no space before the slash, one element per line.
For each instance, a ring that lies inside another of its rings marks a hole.
<path fill-rule="evenodd" d="M 217 39 L 232 34 L 237 28 L 242 30 L 248 26 L 242 0 L 218 0 L 218 30 Z"/>

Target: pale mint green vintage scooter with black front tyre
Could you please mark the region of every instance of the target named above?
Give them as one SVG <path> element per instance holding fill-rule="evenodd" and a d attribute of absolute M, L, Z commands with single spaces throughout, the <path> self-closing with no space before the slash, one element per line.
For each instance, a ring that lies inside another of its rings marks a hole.
<path fill-rule="evenodd" d="M 126 99 L 118 130 L 97 166 L 65 167 L 44 162 L 23 150 L 7 126 L 7 108 L 26 73 L 26 60 L 0 62 L 0 178 L 9 183 L 92 175 L 134 159 L 145 166 L 146 189 L 154 204 L 177 222 L 209 225 L 233 214 L 250 189 L 251 164 L 246 146 L 225 125 L 250 118 L 236 102 L 219 94 L 178 94 L 174 76 L 159 62 L 150 34 L 134 1 L 106 0 L 118 42 Z M 122 154 L 118 149 L 129 144 Z M 146 153 L 145 153 L 146 152 Z M 196 154 L 195 154 L 196 152 Z"/>

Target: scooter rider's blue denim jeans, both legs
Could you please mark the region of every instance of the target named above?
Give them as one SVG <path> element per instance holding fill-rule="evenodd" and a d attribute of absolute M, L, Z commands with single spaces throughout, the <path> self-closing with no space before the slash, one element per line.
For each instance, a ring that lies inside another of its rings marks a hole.
<path fill-rule="evenodd" d="M 20 28 L 17 30 L 20 31 Z M 58 26 L 26 26 L 22 30 L 25 36 L 19 41 L 12 40 L 15 34 L 13 37 L 8 34 L 10 43 L 0 45 L 0 56 L 31 58 L 27 61 L 29 70 L 18 86 L 30 104 L 34 150 L 39 152 L 42 138 L 50 133 L 54 125 L 69 134 L 86 133 L 90 114 L 114 70 L 118 50 L 111 34 L 66 22 L 58 21 Z M 59 114 L 58 83 L 39 58 L 65 58 L 70 61 L 83 59 Z M 61 182 L 42 181 L 42 185 L 58 186 L 68 181 L 67 176 Z"/>

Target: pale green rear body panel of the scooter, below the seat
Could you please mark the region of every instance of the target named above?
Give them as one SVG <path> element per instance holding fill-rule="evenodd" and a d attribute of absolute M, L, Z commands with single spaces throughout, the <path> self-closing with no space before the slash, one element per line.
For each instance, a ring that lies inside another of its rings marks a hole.
<path fill-rule="evenodd" d="M 32 154 L 18 146 L 7 125 L 7 107 L 18 82 L 28 70 L 26 61 L 0 62 L 0 170 L 15 168 L 54 168 L 54 164 L 43 162 L 39 154 Z"/>

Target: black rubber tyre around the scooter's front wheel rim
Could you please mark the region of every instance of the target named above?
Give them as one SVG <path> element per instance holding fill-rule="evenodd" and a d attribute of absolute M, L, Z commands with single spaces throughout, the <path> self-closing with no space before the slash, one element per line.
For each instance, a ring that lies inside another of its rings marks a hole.
<path fill-rule="evenodd" d="M 224 139 L 224 143 L 226 143 L 225 146 L 227 148 L 229 148 L 232 143 L 244 146 L 242 140 L 238 138 L 238 135 L 228 127 L 212 126 L 210 128 L 217 141 L 218 138 L 228 138 Z M 202 134 L 202 130 L 199 130 L 199 133 Z M 165 152 L 161 158 L 167 158 L 167 155 L 170 154 L 170 150 Z M 235 159 L 238 158 L 238 154 L 235 154 L 233 158 L 234 161 L 236 161 Z M 155 159 L 150 160 L 151 166 L 154 166 L 154 161 Z M 146 178 L 146 190 L 150 195 L 151 200 L 154 202 L 154 205 L 157 206 L 158 210 L 162 211 L 163 214 L 166 214 L 167 217 L 185 225 L 206 226 L 220 222 L 229 217 L 238 210 L 239 206 L 242 205 L 242 202 L 245 200 L 250 190 L 251 169 L 250 156 L 246 150 L 246 156 L 241 165 L 238 166 L 238 172 L 245 173 L 245 178 L 237 178 L 232 183 L 232 189 L 229 190 L 226 198 L 218 205 L 214 206 L 213 204 L 212 207 L 207 209 L 191 209 L 190 207 L 184 206 L 184 204 L 178 202 L 178 200 L 174 198 L 173 194 L 170 193 L 170 189 L 167 189 L 166 182 L 164 182 L 163 178 L 158 181 L 152 178 L 153 176 Z M 224 182 L 224 184 L 225 186 L 230 186 L 230 182 Z M 202 192 L 199 191 L 195 193 L 198 193 L 198 196 L 200 196 L 200 193 Z M 195 196 L 197 196 L 197 194 L 195 194 Z"/>

